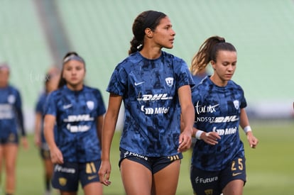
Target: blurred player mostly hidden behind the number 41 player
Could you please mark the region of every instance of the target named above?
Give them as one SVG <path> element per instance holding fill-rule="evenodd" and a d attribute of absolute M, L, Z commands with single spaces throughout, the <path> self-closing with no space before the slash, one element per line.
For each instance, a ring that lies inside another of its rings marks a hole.
<path fill-rule="evenodd" d="M 40 157 L 43 160 L 43 166 L 45 169 L 45 195 L 51 194 L 50 183 L 53 175 L 53 163 L 50 159 L 49 147 L 45 141 L 43 131 L 44 105 L 48 94 L 58 88 L 59 77 L 60 70 L 57 67 L 52 67 L 48 70 L 48 72 L 45 74 L 45 91 L 40 94 L 36 104 L 35 144 L 40 148 Z"/>

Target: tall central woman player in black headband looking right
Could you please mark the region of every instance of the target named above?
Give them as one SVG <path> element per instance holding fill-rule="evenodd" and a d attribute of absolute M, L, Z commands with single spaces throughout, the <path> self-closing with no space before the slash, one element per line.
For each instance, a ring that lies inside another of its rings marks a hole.
<path fill-rule="evenodd" d="M 158 11 L 144 11 L 133 24 L 129 57 L 116 66 L 107 88 L 99 177 L 109 185 L 109 151 L 121 101 L 125 120 L 119 166 L 126 194 L 175 194 L 183 151 L 191 144 L 194 109 L 187 64 L 164 52 L 175 31 Z M 182 113 L 183 132 L 180 133 Z"/>

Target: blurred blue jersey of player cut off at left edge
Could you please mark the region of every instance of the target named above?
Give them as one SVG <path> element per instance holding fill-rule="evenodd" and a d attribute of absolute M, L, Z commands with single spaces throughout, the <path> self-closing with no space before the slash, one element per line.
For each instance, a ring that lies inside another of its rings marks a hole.
<path fill-rule="evenodd" d="M 7 138 L 11 133 L 26 135 L 23 127 L 21 95 L 15 87 L 0 88 L 0 138 Z"/>

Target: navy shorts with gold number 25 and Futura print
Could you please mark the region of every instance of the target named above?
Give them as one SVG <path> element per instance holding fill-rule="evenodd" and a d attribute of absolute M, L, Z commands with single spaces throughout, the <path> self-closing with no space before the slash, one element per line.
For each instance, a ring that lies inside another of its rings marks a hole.
<path fill-rule="evenodd" d="M 192 188 L 197 195 L 222 194 L 222 189 L 236 179 L 243 180 L 244 184 L 246 182 L 244 157 L 236 157 L 227 168 L 217 172 L 204 171 L 193 166 L 190 170 Z"/>

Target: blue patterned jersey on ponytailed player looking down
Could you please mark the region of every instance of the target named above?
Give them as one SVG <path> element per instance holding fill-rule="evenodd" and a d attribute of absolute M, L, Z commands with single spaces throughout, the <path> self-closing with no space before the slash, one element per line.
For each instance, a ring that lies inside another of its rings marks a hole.
<path fill-rule="evenodd" d="M 235 157 L 244 157 L 244 146 L 239 138 L 241 108 L 246 107 L 244 91 L 229 81 L 226 87 L 218 87 L 206 77 L 192 89 L 195 106 L 195 128 L 219 133 L 217 145 L 197 140 L 192 155 L 192 165 L 206 171 L 218 171 L 227 167 Z"/>

